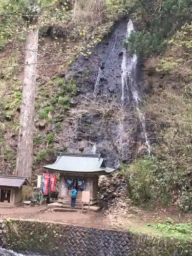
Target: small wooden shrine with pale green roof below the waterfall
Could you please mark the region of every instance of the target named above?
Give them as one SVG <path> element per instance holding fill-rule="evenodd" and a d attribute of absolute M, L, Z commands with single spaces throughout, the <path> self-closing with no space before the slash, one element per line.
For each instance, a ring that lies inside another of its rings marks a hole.
<path fill-rule="evenodd" d="M 58 202 L 65 203 L 76 188 L 78 199 L 83 190 L 90 191 L 90 205 L 97 203 L 99 175 L 109 175 L 115 170 L 106 167 L 100 155 L 84 153 L 61 153 L 55 163 L 44 167 L 60 173 Z"/>

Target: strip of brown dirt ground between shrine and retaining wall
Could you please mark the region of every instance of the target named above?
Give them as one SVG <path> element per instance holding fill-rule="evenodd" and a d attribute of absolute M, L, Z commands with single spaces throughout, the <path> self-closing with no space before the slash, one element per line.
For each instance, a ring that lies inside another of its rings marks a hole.
<path fill-rule="evenodd" d="M 121 210 L 120 210 L 121 209 Z M 98 228 L 118 228 L 129 229 L 131 226 L 137 228 L 144 226 L 148 222 L 163 222 L 171 218 L 176 223 L 188 222 L 192 219 L 192 214 L 184 214 L 173 209 L 156 209 L 147 211 L 136 207 L 120 208 L 117 205 L 109 210 L 94 212 L 58 212 L 49 209 L 47 206 L 20 207 L 0 207 L 1 219 L 28 219 L 39 221 L 53 221 L 69 225 L 98 227 Z"/>

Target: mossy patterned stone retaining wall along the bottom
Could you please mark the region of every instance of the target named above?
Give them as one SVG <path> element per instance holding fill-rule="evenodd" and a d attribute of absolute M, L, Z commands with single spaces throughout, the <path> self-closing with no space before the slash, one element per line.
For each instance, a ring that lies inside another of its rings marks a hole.
<path fill-rule="evenodd" d="M 191 256 L 189 242 L 127 231 L 61 223 L 7 220 L 0 223 L 0 245 L 23 253 L 51 256 Z"/>

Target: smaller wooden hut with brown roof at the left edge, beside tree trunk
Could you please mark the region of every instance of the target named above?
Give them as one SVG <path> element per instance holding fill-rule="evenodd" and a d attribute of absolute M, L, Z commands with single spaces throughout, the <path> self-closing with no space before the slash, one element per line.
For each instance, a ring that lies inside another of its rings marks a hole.
<path fill-rule="evenodd" d="M 24 185 L 30 185 L 26 177 L 0 175 L 0 206 L 16 206 L 22 203 Z"/>

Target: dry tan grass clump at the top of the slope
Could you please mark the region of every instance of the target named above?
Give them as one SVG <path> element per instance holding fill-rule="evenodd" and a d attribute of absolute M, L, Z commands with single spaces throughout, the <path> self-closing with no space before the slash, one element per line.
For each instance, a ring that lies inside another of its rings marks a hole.
<path fill-rule="evenodd" d="M 110 7 L 110 8 L 109 8 Z M 105 33 L 105 27 L 111 27 L 116 18 L 117 6 L 106 0 L 76 0 L 72 10 L 63 11 L 60 8 L 60 17 L 53 15 L 47 18 L 46 27 L 51 26 L 53 33 L 65 36 L 68 39 L 93 39 L 95 34 Z M 44 31 L 44 26 L 41 28 Z"/>

